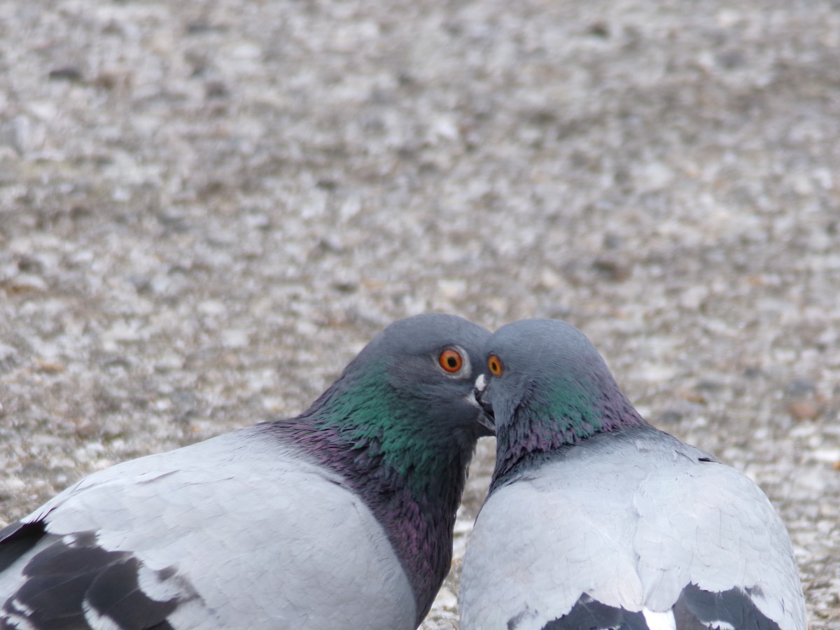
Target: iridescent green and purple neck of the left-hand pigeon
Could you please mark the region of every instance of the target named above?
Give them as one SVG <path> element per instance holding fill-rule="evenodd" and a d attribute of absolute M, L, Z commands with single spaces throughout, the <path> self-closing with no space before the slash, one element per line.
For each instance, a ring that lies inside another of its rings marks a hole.
<path fill-rule="evenodd" d="M 363 374 L 345 372 L 307 412 L 274 430 L 342 475 L 370 507 L 412 582 L 419 624 L 449 571 L 477 435 L 445 430 L 428 401 L 401 394 L 387 371 L 368 364 Z"/>

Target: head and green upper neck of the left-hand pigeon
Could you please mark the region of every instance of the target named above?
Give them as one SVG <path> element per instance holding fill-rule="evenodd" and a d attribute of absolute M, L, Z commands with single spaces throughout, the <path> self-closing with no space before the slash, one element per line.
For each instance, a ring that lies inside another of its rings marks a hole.
<path fill-rule="evenodd" d="M 473 393 L 489 336 L 478 324 L 438 313 L 392 323 L 325 393 L 322 411 L 343 432 L 375 438 L 398 469 L 407 450 L 471 450 L 492 434 Z"/>

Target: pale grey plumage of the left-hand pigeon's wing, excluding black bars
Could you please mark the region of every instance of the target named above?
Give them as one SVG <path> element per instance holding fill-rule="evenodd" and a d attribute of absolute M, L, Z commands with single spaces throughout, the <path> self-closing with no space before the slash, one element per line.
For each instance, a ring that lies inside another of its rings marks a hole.
<path fill-rule="evenodd" d="M 139 562 L 144 596 L 176 598 L 172 627 L 414 627 L 411 586 L 365 504 L 248 429 L 90 475 L 23 520 L 47 536 L 0 574 L 3 597 L 45 545 L 94 533 Z"/>

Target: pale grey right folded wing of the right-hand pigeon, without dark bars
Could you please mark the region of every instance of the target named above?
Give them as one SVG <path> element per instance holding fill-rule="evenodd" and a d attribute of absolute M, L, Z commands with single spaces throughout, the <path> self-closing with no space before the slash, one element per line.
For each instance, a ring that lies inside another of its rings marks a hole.
<path fill-rule="evenodd" d="M 648 476 L 634 507 L 648 607 L 669 608 L 687 582 L 706 591 L 747 587 L 780 627 L 804 627 L 804 609 L 792 606 L 801 602 L 801 585 L 785 525 L 738 470 L 717 463 L 675 466 Z"/>

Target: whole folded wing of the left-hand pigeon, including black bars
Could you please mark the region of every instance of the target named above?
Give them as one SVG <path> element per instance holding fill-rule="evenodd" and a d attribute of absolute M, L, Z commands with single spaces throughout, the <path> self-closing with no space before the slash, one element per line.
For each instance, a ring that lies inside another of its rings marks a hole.
<path fill-rule="evenodd" d="M 414 627 L 360 498 L 248 429 L 90 475 L 3 533 L 7 624 Z"/>

